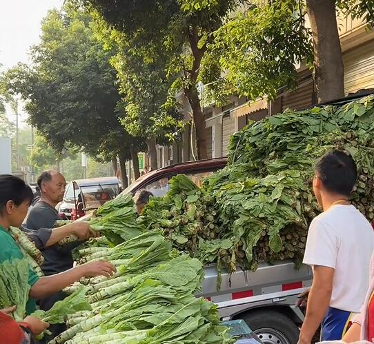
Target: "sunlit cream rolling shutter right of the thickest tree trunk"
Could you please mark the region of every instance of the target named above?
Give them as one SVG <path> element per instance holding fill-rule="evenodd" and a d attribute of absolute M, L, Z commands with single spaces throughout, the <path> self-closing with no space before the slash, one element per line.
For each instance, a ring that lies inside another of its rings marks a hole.
<path fill-rule="evenodd" d="M 374 40 L 348 50 L 343 62 L 346 94 L 374 88 Z"/>

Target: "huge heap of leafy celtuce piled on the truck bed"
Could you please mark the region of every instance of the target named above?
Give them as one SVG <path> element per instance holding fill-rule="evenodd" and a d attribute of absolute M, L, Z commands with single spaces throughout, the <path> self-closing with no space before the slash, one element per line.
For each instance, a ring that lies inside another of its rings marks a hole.
<path fill-rule="evenodd" d="M 332 149 L 352 154 L 359 170 L 353 204 L 374 218 L 374 96 L 342 106 L 283 114 L 251 123 L 233 136 L 229 163 L 201 189 L 177 176 L 153 199 L 141 222 L 161 228 L 179 250 L 203 263 L 255 270 L 260 261 L 304 254 L 319 208 L 313 165 Z M 189 185 L 186 187 L 186 185 Z"/>

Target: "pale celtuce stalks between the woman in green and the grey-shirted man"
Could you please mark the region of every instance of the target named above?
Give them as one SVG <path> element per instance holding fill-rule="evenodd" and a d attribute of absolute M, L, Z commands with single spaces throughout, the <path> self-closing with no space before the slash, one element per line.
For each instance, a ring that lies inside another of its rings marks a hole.
<path fill-rule="evenodd" d="M 9 234 L 19 246 L 23 256 L 28 259 L 28 263 L 32 267 L 32 270 L 34 270 L 39 277 L 44 276 L 40 267 L 40 265 L 44 263 L 44 258 L 35 244 L 28 239 L 27 234 L 17 227 L 10 227 Z"/>

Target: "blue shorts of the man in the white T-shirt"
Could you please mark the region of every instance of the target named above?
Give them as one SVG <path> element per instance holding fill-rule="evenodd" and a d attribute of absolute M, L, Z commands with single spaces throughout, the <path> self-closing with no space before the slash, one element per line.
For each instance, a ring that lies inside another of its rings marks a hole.
<path fill-rule="evenodd" d="M 353 313 L 328 307 L 321 325 L 321 341 L 340 341 L 348 330 Z"/>

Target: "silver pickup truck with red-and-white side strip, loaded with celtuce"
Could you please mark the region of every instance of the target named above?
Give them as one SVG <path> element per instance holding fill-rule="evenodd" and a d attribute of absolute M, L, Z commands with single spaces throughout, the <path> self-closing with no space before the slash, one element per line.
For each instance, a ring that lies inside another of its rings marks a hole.
<path fill-rule="evenodd" d="M 146 189 L 155 196 L 164 196 L 172 176 L 183 173 L 201 185 L 204 178 L 224 168 L 226 163 L 226 158 L 219 158 L 160 168 L 141 176 L 123 192 L 135 194 L 137 190 Z M 216 265 L 206 265 L 204 270 L 203 289 L 199 296 L 216 303 L 224 321 L 244 320 L 260 343 L 297 343 L 304 314 L 295 303 L 299 294 L 311 286 L 309 267 L 302 265 L 295 270 L 293 261 L 285 260 L 273 265 L 260 263 L 256 272 L 238 268 L 235 274 L 230 274 L 222 269 L 219 291 Z"/>

